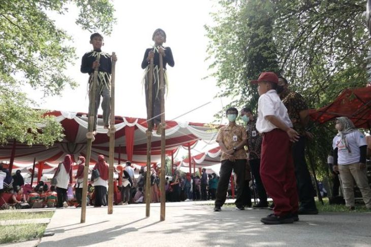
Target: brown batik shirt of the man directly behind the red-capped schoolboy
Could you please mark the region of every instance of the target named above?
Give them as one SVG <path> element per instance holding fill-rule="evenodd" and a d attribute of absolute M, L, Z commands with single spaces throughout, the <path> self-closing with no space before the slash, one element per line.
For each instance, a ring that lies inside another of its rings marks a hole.
<path fill-rule="evenodd" d="M 299 113 L 303 110 L 308 110 L 308 106 L 304 101 L 304 98 L 296 92 L 287 91 L 280 95 L 282 102 L 287 108 L 287 113 L 292 122 L 293 129 L 296 130 L 300 135 L 305 135 L 305 128 L 301 124 Z"/>

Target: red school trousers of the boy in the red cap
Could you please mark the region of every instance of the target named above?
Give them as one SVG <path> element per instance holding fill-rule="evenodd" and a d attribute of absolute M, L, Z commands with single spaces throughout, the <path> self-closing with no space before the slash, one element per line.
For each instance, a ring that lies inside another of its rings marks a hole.
<path fill-rule="evenodd" d="M 273 199 L 274 214 L 296 213 L 299 199 L 291 142 L 285 131 L 273 129 L 264 133 L 260 176 L 265 190 Z"/>

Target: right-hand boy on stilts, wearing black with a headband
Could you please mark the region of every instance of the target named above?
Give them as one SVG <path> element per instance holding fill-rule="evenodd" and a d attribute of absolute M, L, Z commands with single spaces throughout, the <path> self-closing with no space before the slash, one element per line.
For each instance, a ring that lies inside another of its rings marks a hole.
<path fill-rule="evenodd" d="M 152 41 L 154 41 L 153 48 L 145 50 L 142 68 L 144 70 L 144 83 L 145 83 L 145 103 L 147 107 L 147 119 L 153 117 L 153 122 L 156 127 L 161 123 L 161 104 L 160 104 L 160 58 L 159 54 L 163 56 L 163 67 L 164 67 L 164 83 L 167 85 L 166 76 L 166 64 L 174 66 L 173 54 L 170 47 L 163 47 L 162 45 L 166 42 L 166 33 L 161 28 L 154 30 L 152 35 Z M 149 62 L 153 58 L 153 86 L 152 86 L 152 116 L 148 116 L 148 80 L 149 80 Z M 159 129 L 158 129 L 159 130 Z M 159 134 L 160 131 L 158 131 Z"/>

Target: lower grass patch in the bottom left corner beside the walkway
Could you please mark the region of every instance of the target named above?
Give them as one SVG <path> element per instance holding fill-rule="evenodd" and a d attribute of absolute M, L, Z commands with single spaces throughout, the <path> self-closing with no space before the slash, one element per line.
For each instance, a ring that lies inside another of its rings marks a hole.
<path fill-rule="evenodd" d="M 47 224 L 22 224 L 2 226 L 0 244 L 27 241 L 43 236 Z"/>

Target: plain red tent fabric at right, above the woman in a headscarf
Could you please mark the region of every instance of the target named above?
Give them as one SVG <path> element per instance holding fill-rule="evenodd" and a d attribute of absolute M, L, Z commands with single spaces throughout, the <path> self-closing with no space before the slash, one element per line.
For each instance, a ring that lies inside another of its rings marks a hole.
<path fill-rule="evenodd" d="M 358 128 L 371 129 L 371 87 L 345 89 L 331 104 L 310 110 L 320 124 L 337 117 L 348 117 Z"/>

